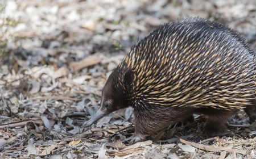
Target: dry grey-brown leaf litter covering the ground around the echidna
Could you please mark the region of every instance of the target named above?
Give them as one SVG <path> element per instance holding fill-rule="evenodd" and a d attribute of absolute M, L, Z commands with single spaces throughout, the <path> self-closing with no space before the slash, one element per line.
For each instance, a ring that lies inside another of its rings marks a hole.
<path fill-rule="evenodd" d="M 1 2 L 2 3 L 2 2 Z M 176 123 L 130 144 L 133 110 L 81 124 L 99 108 L 101 90 L 131 45 L 159 24 L 200 16 L 228 25 L 256 49 L 256 2 L 3 1 L 17 22 L 0 72 L 0 158 L 256 158 L 256 123 L 241 111 L 233 136 L 204 135 L 205 119 Z"/>

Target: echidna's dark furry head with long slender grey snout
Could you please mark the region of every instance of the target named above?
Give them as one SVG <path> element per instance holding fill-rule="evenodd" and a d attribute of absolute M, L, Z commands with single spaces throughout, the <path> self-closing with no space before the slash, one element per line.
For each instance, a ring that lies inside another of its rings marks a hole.
<path fill-rule="evenodd" d="M 127 73 L 125 73 L 127 74 Z M 127 77 L 126 75 L 124 77 Z M 103 116 L 113 112 L 115 110 L 119 110 L 121 108 L 126 108 L 129 106 L 127 102 L 127 90 L 124 89 L 123 81 L 127 80 L 119 80 L 118 70 L 115 69 L 109 76 L 106 84 L 102 90 L 102 98 L 101 98 L 101 106 L 100 109 L 92 116 L 92 118 L 84 123 L 84 126 L 92 125 L 98 119 Z M 85 125 L 86 124 L 86 125 Z"/>

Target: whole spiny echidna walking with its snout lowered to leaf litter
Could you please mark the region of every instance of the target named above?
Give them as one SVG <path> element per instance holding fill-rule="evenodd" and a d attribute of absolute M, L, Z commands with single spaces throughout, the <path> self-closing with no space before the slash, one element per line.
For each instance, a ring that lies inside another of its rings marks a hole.
<path fill-rule="evenodd" d="M 255 51 L 228 27 L 201 18 L 163 24 L 110 74 L 100 110 L 84 126 L 131 106 L 133 141 L 193 113 L 206 116 L 207 135 L 218 135 L 237 110 L 255 119 L 255 66 Z"/>

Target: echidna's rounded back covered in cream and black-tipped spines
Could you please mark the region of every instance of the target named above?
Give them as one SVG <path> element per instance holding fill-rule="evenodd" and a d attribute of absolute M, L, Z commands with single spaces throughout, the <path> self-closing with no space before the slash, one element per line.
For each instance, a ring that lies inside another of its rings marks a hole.
<path fill-rule="evenodd" d="M 237 32 L 186 18 L 164 24 L 139 41 L 119 69 L 133 70 L 138 105 L 232 110 L 254 98 L 254 56 Z"/>

